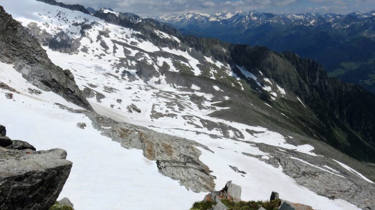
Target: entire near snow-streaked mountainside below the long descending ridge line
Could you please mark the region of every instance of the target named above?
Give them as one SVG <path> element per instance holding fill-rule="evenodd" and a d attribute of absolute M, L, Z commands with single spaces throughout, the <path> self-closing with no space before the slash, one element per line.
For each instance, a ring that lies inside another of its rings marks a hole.
<path fill-rule="evenodd" d="M 375 209 L 375 96 L 317 61 L 0 5 L 1 210 Z"/>

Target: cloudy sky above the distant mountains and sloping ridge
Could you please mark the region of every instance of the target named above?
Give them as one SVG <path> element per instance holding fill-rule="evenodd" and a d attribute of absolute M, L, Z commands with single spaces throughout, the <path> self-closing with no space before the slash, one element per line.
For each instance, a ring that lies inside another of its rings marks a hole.
<path fill-rule="evenodd" d="M 272 13 L 339 13 L 375 10 L 375 0 L 58 0 L 94 9 L 110 7 L 141 16 L 161 16 L 187 11 L 212 13 L 257 10 Z"/>

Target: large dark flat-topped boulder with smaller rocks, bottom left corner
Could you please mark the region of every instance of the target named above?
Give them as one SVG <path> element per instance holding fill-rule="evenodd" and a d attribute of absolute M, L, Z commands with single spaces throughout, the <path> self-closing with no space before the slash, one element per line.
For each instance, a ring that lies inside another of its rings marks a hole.
<path fill-rule="evenodd" d="M 62 149 L 35 151 L 24 141 L 0 147 L 0 209 L 48 210 L 70 173 Z"/>

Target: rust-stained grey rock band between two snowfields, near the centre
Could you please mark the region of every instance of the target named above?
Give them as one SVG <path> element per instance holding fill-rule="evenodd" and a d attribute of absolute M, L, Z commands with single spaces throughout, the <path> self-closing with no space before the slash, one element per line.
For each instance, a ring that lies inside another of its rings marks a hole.
<path fill-rule="evenodd" d="M 162 175 L 178 180 L 180 185 L 193 192 L 211 192 L 215 188 L 213 175 L 199 156 L 197 149 L 208 150 L 207 146 L 167 134 L 158 133 L 146 127 L 118 122 L 108 117 L 85 110 L 73 110 L 57 104 L 74 113 L 83 113 L 92 122 L 92 126 L 101 134 L 119 142 L 126 149 L 139 149 L 143 155 L 156 161 Z"/>

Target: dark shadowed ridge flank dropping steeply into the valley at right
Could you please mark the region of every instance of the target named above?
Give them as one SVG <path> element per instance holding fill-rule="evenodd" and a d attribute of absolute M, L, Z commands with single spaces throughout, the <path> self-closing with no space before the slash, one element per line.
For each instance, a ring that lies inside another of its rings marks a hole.
<path fill-rule="evenodd" d="M 288 127 L 290 130 L 296 126 L 300 133 L 327 142 L 351 157 L 361 161 L 375 161 L 375 156 L 372 155 L 375 153 L 375 111 L 372 109 L 375 96 L 372 93 L 357 85 L 329 78 L 319 63 L 300 58 L 294 53 L 274 53 L 264 47 L 234 45 L 193 36 L 187 36 L 183 40 L 189 47 L 207 56 L 212 55 L 232 66 L 243 66 L 255 76 L 267 77 L 285 88 L 288 94 L 280 101 L 270 101 L 268 93 L 264 91 L 255 93 L 259 99 L 273 104 L 272 107 L 279 108 L 279 111 L 288 110 L 291 113 L 288 117 L 293 122 L 283 122 L 281 127 Z M 227 49 L 226 52 L 218 50 L 223 48 Z M 264 75 L 260 75 L 260 70 Z M 242 75 L 236 68 L 233 71 Z M 246 80 L 251 89 L 257 88 L 252 79 L 241 78 Z M 307 110 L 304 107 L 295 109 L 296 105 L 301 105 L 296 97 L 306 103 Z M 236 102 L 250 109 L 246 102 Z M 294 105 L 292 102 L 295 102 Z M 231 117 L 235 114 L 239 117 Z M 242 114 L 232 113 L 226 120 L 250 123 L 240 120 Z"/>

